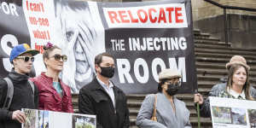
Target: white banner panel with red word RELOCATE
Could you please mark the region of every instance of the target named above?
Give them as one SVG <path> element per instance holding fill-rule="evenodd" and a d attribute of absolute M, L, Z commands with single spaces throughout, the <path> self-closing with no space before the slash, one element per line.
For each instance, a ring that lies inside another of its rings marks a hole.
<path fill-rule="evenodd" d="M 103 8 L 109 28 L 182 28 L 188 27 L 184 3 L 130 8 Z"/>

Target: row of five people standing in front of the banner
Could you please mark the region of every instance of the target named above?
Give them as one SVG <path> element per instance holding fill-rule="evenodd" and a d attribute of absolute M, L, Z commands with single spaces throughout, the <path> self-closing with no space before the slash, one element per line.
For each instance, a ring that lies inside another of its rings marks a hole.
<path fill-rule="evenodd" d="M 28 44 L 16 45 L 9 61 L 14 68 L 7 78 L 0 79 L 0 127 L 21 128 L 26 115 L 21 108 L 73 113 L 70 87 L 59 78 L 67 55 L 54 44 L 44 45 L 43 60 L 46 72 L 30 78 L 34 55 L 38 50 Z M 128 128 L 129 110 L 125 93 L 110 80 L 114 75 L 113 55 L 96 55 L 96 77 L 79 90 L 79 112 L 96 115 L 97 128 Z M 234 55 L 226 64 L 227 83 L 216 84 L 209 96 L 253 100 L 256 90 L 249 84 L 247 61 Z M 177 69 L 163 69 L 159 73 L 158 92 L 146 96 L 137 114 L 137 126 L 141 128 L 191 127 L 189 110 L 175 96 L 181 86 L 181 74 Z M 9 95 L 9 84 L 13 84 L 13 95 Z M 199 103 L 201 116 L 210 117 L 209 99 L 196 93 L 194 102 Z"/>

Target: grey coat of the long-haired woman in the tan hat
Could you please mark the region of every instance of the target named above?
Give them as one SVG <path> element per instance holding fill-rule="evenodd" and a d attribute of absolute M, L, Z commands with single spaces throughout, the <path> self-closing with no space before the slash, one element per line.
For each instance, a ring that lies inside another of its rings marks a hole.
<path fill-rule="evenodd" d="M 212 87 L 212 90 L 209 92 L 209 96 L 219 96 L 219 94 L 225 90 L 226 83 L 216 84 Z M 253 87 L 251 87 L 250 90 L 251 96 L 253 96 L 253 98 L 256 99 L 256 90 Z M 210 101 L 208 97 L 200 106 L 200 114 L 202 117 L 211 117 Z"/>

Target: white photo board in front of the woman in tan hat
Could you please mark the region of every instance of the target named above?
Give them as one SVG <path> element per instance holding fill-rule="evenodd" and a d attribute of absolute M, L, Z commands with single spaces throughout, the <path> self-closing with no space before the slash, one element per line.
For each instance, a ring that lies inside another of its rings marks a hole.
<path fill-rule="evenodd" d="M 256 102 L 209 97 L 213 128 L 256 128 Z"/>

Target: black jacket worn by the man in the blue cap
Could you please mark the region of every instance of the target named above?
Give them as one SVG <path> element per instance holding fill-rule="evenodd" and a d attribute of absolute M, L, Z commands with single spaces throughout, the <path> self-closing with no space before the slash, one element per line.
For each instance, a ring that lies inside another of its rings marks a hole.
<path fill-rule="evenodd" d="M 32 87 L 28 83 L 27 75 L 15 73 L 13 70 L 8 75 L 14 84 L 14 96 L 9 110 L 3 109 L 3 102 L 7 95 L 7 83 L 0 79 L 0 128 L 21 128 L 20 122 L 12 119 L 13 111 L 21 108 L 38 108 L 38 88 L 35 86 L 34 99 L 32 98 Z"/>

